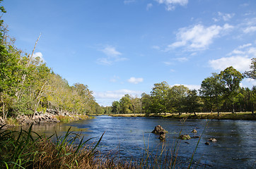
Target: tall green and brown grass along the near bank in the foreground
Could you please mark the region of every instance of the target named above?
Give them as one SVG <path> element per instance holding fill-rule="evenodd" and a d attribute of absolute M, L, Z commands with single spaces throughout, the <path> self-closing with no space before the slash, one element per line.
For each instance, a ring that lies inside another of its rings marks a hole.
<path fill-rule="evenodd" d="M 164 144 L 160 144 L 152 151 L 144 141 L 141 158 L 123 161 L 116 154 L 100 154 L 97 150 L 104 133 L 97 142 L 90 143 L 95 138 L 85 140 L 80 134 L 72 132 L 71 128 L 64 136 L 55 132 L 50 137 L 33 132 L 32 125 L 28 130 L 14 132 L 1 128 L 0 168 L 180 168 L 177 162 L 179 139 L 174 142 L 173 149 L 166 149 Z M 191 167 L 194 153 L 188 168 Z"/>

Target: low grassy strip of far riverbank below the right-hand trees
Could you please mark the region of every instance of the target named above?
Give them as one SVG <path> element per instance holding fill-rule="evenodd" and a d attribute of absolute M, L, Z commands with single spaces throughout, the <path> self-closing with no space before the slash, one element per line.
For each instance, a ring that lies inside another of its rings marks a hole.
<path fill-rule="evenodd" d="M 252 115 L 251 112 L 239 112 L 239 113 L 166 113 L 166 114 L 111 114 L 114 117 L 160 117 L 160 118 L 188 118 L 188 119 L 215 119 L 215 120 L 256 120 L 256 115 Z"/>

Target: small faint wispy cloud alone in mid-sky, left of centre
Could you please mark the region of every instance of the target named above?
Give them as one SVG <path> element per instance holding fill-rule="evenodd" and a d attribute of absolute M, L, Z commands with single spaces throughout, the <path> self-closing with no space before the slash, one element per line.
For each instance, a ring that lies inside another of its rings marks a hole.
<path fill-rule="evenodd" d="M 122 53 L 117 51 L 113 46 L 106 46 L 104 49 L 100 49 L 107 57 L 98 58 L 97 62 L 102 65 L 112 65 L 112 63 L 118 61 L 125 61 L 127 58 L 122 58 Z"/>

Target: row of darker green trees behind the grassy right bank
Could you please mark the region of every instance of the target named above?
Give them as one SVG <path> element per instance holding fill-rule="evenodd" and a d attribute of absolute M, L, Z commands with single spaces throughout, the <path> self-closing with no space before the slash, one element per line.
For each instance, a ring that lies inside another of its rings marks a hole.
<path fill-rule="evenodd" d="M 255 79 L 256 58 L 252 58 L 250 69 L 242 74 L 231 66 L 219 74 L 213 73 L 202 81 L 198 91 L 183 85 L 171 87 L 167 82 L 156 83 L 151 93 L 143 93 L 141 98 L 125 94 L 120 101 L 113 101 L 108 113 L 253 113 L 256 87 L 240 87 L 240 82 L 245 77 Z"/>

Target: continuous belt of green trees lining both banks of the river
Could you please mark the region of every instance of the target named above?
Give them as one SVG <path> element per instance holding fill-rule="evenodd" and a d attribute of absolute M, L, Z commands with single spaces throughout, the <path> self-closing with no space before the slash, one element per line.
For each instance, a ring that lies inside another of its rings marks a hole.
<path fill-rule="evenodd" d="M 3 6 L 0 12 L 6 13 Z M 160 82 L 153 84 L 150 94 L 141 94 L 141 98 L 125 94 L 120 101 L 113 101 L 112 106 L 103 107 L 95 101 L 86 84 L 69 85 L 36 57 L 34 51 L 39 39 L 31 54 L 17 49 L 15 39 L 8 35 L 7 26 L 0 18 L 0 116 L 8 123 L 16 123 L 21 115 L 35 119 L 36 113 L 47 113 L 47 110 L 74 116 L 93 113 L 197 115 L 198 112 L 218 112 L 219 116 L 219 112 L 228 111 L 254 114 L 256 87 L 249 89 L 239 84 L 245 77 L 255 79 L 256 58 L 252 58 L 251 70 L 245 73 L 231 66 L 206 77 L 199 91 Z"/>

